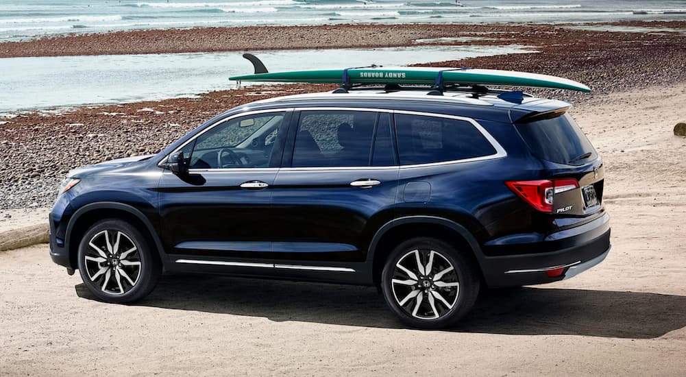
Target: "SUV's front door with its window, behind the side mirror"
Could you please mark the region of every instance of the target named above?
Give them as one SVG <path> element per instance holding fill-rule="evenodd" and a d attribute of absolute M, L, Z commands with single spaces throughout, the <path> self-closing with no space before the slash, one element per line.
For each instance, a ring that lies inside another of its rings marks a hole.
<path fill-rule="evenodd" d="M 180 148 L 189 176 L 165 171 L 159 185 L 167 253 L 221 259 L 271 251 L 271 190 L 288 118 L 288 111 L 228 117 Z"/>

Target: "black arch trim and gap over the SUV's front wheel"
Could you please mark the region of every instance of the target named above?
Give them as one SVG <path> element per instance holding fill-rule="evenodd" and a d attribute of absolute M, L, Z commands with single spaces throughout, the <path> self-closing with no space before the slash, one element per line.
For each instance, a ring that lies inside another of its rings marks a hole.
<path fill-rule="evenodd" d="M 105 218 L 119 218 L 132 223 L 132 225 L 139 225 L 139 230 L 147 238 L 150 246 L 154 247 L 160 262 L 164 263 L 162 242 L 152 222 L 145 214 L 132 205 L 117 202 L 97 202 L 80 207 L 69 219 L 67 231 L 65 231 L 64 247 L 69 253 L 71 268 L 78 268 L 77 256 L 81 236 L 95 221 Z"/>

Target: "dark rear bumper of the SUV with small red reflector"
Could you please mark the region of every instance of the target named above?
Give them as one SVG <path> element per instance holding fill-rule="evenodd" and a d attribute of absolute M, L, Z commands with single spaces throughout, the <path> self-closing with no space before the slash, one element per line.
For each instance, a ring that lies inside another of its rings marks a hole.
<path fill-rule="evenodd" d="M 508 245 L 510 250 L 536 253 L 484 257 L 480 263 L 490 287 L 545 284 L 590 269 L 605 259 L 610 248 L 609 216 L 604 214 L 581 227 L 553 233 L 541 242 Z M 548 275 L 560 269 L 559 275 Z"/>

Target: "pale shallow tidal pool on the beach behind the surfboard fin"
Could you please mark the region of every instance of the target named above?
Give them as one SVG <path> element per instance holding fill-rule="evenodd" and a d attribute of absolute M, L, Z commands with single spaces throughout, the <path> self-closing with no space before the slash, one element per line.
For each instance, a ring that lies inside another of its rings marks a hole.
<path fill-rule="evenodd" d="M 410 65 L 535 52 L 521 45 L 304 49 L 254 52 L 271 71 Z M 0 59 L 0 120 L 28 110 L 161 100 L 235 89 L 229 76 L 252 73 L 239 52 Z M 0 123 L 1 124 L 1 123 Z"/>

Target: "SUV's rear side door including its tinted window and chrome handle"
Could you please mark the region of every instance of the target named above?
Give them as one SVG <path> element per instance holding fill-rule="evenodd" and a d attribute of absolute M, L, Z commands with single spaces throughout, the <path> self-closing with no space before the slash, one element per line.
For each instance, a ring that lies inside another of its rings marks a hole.
<path fill-rule="evenodd" d="M 272 189 L 275 254 L 364 262 L 373 232 L 392 219 L 399 169 L 390 125 L 390 111 L 294 113 Z"/>

